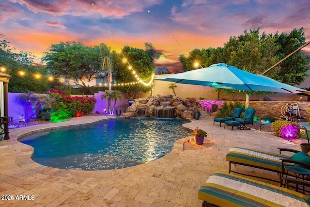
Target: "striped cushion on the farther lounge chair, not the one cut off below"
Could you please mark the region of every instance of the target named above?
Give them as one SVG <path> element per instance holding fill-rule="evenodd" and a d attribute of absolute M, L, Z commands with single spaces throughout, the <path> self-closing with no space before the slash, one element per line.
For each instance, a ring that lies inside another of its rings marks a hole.
<path fill-rule="evenodd" d="M 242 147 L 232 147 L 226 155 L 227 161 L 263 167 L 277 172 L 282 172 L 282 161 L 280 159 L 290 159 L 290 157 Z"/>

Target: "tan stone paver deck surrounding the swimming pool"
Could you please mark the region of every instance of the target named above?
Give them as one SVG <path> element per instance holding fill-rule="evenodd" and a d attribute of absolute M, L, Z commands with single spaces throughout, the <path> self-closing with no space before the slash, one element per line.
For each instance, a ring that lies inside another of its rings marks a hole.
<path fill-rule="evenodd" d="M 206 130 L 207 139 L 214 143 L 213 146 L 183 151 L 183 142 L 188 139 L 183 138 L 163 158 L 118 170 L 75 171 L 43 166 L 32 161 L 31 146 L 16 140 L 20 135 L 35 130 L 107 118 L 110 117 L 78 117 L 62 123 L 10 129 L 10 140 L 0 141 L 0 206 L 201 207 L 202 201 L 197 199 L 198 190 L 214 171 L 228 172 L 229 162 L 225 155 L 230 147 L 251 147 L 276 153 L 278 147 L 300 150 L 298 145 L 271 133 L 232 131 L 231 127 L 224 129 L 217 123 L 213 126 L 211 116 L 192 120 L 184 127 Z M 238 170 L 252 175 L 278 177 L 276 173 L 251 167 L 238 166 Z M 13 200 L 8 200 L 12 195 Z M 29 195 L 29 199 L 17 200 L 17 195 Z"/>

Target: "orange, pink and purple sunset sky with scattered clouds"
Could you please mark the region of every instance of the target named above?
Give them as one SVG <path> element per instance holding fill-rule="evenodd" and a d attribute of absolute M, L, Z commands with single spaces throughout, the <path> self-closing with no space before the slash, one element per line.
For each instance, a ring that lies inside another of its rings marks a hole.
<path fill-rule="evenodd" d="M 167 55 L 157 67 L 180 71 L 179 55 L 223 47 L 230 36 L 258 27 L 272 34 L 303 27 L 309 41 L 310 0 L 0 1 L 0 33 L 16 52 L 36 55 L 36 62 L 59 42 L 106 43 L 113 50 L 144 49 L 150 42 Z M 303 51 L 310 54 L 310 45 Z"/>

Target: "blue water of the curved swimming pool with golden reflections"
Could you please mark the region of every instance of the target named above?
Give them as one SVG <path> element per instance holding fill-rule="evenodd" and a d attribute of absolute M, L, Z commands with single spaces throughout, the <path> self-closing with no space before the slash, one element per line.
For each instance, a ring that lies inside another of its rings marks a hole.
<path fill-rule="evenodd" d="M 118 118 L 19 139 L 34 148 L 32 159 L 61 169 L 107 170 L 138 165 L 171 152 L 190 135 L 182 119 Z"/>

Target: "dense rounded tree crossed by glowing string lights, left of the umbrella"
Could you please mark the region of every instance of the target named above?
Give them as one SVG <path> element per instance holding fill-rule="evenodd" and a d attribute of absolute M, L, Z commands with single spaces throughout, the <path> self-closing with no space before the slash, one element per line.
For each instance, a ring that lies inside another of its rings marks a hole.
<path fill-rule="evenodd" d="M 151 81 L 155 68 L 151 65 L 152 59 L 150 55 L 142 49 L 129 46 L 125 46 L 122 49 L 122 53 L 130 63 L 132 69 L 128 69 L 128 64 L 124 63 L 120 57 L 113 58 L 116 65 L 115 80 L 117 80 L 118 83 L 128 83 L 123 86 L 115 86 L 115 89 L 127 93 L 130 99 L 135 98 L 138 91 L 143 91 L 144 93 L 149 92 L 151 90 L 151 85 L 141 84 L 138 77 L 144 82 Z"/>

